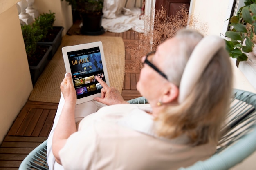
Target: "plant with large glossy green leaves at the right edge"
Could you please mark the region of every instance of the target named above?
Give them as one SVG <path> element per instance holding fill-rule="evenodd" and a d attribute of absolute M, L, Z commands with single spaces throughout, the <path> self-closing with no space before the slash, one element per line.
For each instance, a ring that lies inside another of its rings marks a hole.
<path fill-rule="evenodd" d="M 246 61 L 246 53 L 253 51 L 256 34 L 256 0 L 245 0 L 245 6 L 241 7 L 237 15 L 229 18 L 229 30 L 225 33 L 226 49 L 230 57 L 236 58 L 236 66 L 239 62 Z"/>

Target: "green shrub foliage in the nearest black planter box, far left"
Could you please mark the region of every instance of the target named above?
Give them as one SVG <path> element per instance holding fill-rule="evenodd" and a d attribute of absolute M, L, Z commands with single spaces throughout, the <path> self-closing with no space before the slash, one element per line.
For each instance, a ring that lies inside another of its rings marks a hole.
<path fill-rule="evenodd" d="M 24 39 L 27 57 L 31 58 L 36 52 L 37 42 L 43 38 L 43 31 L 39 26 L 22 25 L 22 35 Z"/>

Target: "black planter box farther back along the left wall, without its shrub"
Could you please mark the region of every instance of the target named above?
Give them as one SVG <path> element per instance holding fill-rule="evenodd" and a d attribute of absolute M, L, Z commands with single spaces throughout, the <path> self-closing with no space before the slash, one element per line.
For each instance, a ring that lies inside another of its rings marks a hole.
<path fill-rule="evenodd" d="M 52 46 L 52 53 L 51 53 L 51 55 L 49 55 L 49 57 L 50 57 L 49 59 L 51 59 L 54 56 L 54 54 L 58 50 L 58 47 L 61 45 L 61 40 L 62 40 L 62 35 L 61 34 L 62 34 L 63 29 L 64 28 L 62 26 L 54 26 L 53 31 L 54 32 L 58 31 L 54 40 L 49 42 L 45 39 L 45 40 L 42 40 L 41 42 L 38 42 L 38 44 L 45 44 L 45 45 Z M 51 34 L 51 31 L 49 31 L 48 34 Z"/>

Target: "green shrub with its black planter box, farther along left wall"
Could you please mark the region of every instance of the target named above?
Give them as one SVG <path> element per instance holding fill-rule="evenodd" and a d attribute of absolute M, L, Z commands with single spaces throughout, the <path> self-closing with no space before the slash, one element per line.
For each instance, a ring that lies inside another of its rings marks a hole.
<path fill-rule="evenodd" d="M 49 11 L 49 13 L 40 14 L 38 18 L 35 18 L 35 22 L 32 26 L 38 26 L 43 31 L 43 38 L 38 44 L 47 44 L 52 46 L 52 53 L 49 55 L 50 59 L 58 50 L 62 40 L 62 26 L 53 26 L 55 21 L 55 13 Z"/>

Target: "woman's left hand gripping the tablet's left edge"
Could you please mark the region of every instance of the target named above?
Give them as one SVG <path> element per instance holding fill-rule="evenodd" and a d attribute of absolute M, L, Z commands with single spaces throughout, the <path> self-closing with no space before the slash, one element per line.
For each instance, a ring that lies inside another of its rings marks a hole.
<path fill-rule="evenodd" d="M 65 78 L 61 82 L 61 92 L 65 102 L 70 102 L 72 104 L 76 103 L 76 90 L 72 83 L 72 77 L 70 73 L 66 73 Z"/>

